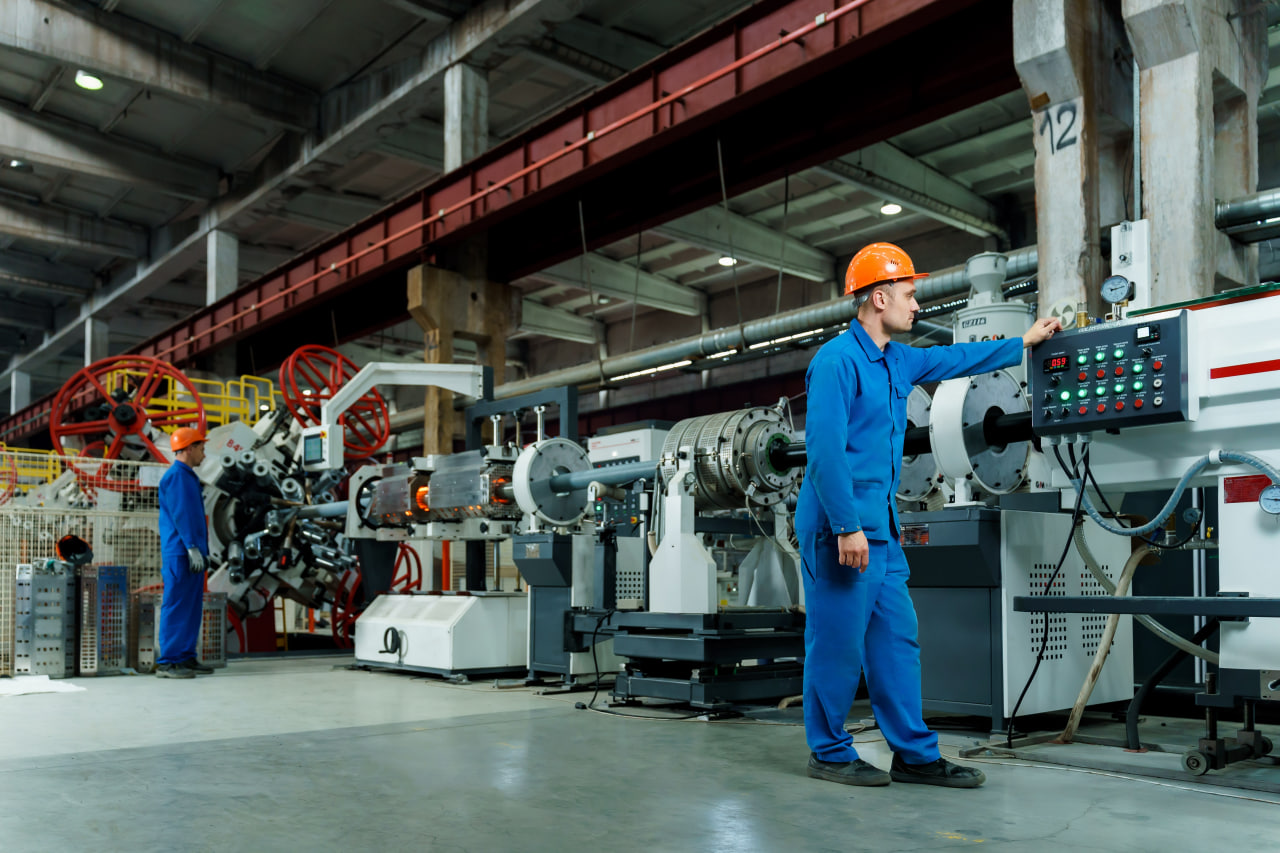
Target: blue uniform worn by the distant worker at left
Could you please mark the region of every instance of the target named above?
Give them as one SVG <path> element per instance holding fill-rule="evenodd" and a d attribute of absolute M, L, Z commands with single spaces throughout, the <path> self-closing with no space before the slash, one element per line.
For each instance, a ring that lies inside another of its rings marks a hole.
<path fill-rule="evenodd" d="M 187 548 L 209 556 L 209 525 L 200 478 L 174 461 L 160 478 L 160 656 L 156 663 L 182 663 L 196 657 L 205 603 L 205 573 L 191 571 Z"/>

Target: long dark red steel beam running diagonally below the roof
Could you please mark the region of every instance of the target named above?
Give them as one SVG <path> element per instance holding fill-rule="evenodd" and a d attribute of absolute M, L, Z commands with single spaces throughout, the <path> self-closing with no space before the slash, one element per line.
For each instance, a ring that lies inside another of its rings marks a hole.
<path fill-rule="evenodd" d="M 974 5 L 978 0 L 758 3 L 131 352 L 187 364 Z M 910 54 L 904 51 L 904 61 Z M 47 419 L 45 398 L 0 423 L 0 441 L 47 428 Z"/>

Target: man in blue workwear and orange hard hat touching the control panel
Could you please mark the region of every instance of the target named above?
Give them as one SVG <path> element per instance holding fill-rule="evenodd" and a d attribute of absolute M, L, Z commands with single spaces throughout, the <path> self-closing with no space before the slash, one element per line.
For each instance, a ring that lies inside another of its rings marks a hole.
<path fill-rule="evenodd" d="M 845 275 L 859 300 L 849 330 L 828 341 L 805 377 L 809 456 L 795 526 L 805 592 L 804 724 L 808 772 L 846 785 L 923 783 L 977 788 L 982 771 L 938 753 L 924 725 L 920 647 L 909 570 L 899 542 L 897 492 L 911 387 L 1001 368 L 1023 347 L 1053 337 L 1056 319 L 1038 320 L 1019 338 L 913 347 L 890 339 L 911 330 L 916 273 L 892 243 L 872 243 Z M 867 674 L 876 722 L 893 751 L 890 772 L 863 761 L 845 731 Z"/>

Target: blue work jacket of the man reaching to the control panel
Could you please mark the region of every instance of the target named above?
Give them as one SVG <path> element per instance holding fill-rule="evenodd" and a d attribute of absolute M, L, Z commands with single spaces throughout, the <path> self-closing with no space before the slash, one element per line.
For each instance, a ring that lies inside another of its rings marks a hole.
<path fill-rule="evenodd" d="M 910 347 L 891 341 L 883 351 L 858 320 L 813 356 L 805 374 L 809 457 L 797 532 L 861 530 L 868 539 L 897 535 L 897 478 L 906 435 L 906 398 L 922 382 L 940 382 L 1011 368 L 1023 339 Z"/>

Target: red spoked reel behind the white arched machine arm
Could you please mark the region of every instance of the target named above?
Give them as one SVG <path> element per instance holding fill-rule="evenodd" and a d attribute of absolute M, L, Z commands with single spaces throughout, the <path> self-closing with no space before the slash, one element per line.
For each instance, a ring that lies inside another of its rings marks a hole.
<path fill-rule="evenodd" d="M 303 426 L 319 426 L 320 407 L 357 373 L 356 362 L 337 350 L 308 343 L 280 365 L 280 394 L 294 420 Z M 343 457 L 348 460 L 372 456 L 392 437 L 387 402 L 376 388 L 365 392 L 338 423 L 343 426 Z"/>

